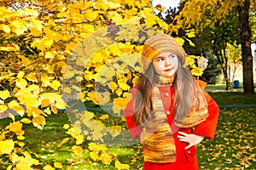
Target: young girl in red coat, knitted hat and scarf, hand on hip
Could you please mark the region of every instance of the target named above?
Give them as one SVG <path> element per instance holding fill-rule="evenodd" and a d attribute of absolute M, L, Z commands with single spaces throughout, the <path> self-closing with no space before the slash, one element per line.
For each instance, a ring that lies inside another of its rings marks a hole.
<path fill-rule="evenodd" d="M 150 37 L 143 46 L 144 74 L 131 88 L 127 126 L 143 143 L 144 170 L 199 169 L 195 144 L 213 139 L 218 105 L 184 68 L 186 54 L 175 38 Z"/>

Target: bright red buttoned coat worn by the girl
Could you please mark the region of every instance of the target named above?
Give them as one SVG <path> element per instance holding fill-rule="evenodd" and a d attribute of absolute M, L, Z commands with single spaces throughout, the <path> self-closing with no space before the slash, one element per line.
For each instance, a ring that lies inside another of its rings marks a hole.
<path fill-rule="evenodd" d="M 170 102 L 173 101 L 174 89 L 172 87 L 160 87 L 160 95 L 163 101 L 163 105 L 166 111 L 172 111 L 172 106 L 169 107 Z M 131 88 L 132 99 L 125 108 L 124 114 L 127 126 L 130 130 L 131 137 L 133 139 L 140 139 L 140 133 L 142 132 L 142 127 L 137 127 L 133 119 L 133 105 L 135 101 L 135 96 L 137 94 L 137 86 Z M 196 149 L 195 146 L 185 150 L 184 148 L 188 143 L 179 141 L 177 139 L 177 132 L 181 131 L 183 133 L 194 133 L 206 137 L 207 139 L 213 139 L 214 133 L 218 123 L 218 105 L 212 99 L 212 97 L 203 91 L 207 99 L 207 109 L 209 116 L 207 120 L 198 124 L 194 130 L 193 128 L 179 128 L 172 124 L 173 114 L 167 115 L 168 122 L 172 128 L 173 138 L 176 145 L 176 161 L 172 163 L 153 163 L 144 161 L 144 170 L 196 170 L 199 169 L 198 162 L 196 159 Z"/>

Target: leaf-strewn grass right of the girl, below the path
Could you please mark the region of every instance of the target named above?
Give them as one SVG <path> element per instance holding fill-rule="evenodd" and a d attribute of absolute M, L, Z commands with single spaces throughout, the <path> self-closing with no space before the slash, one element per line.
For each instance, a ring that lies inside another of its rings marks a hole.
<path fill-rule="evenodd" d="M 220 111 L 215 139 L 198 144 L 201 169 L 255 169 L 256 108 Z"/>

